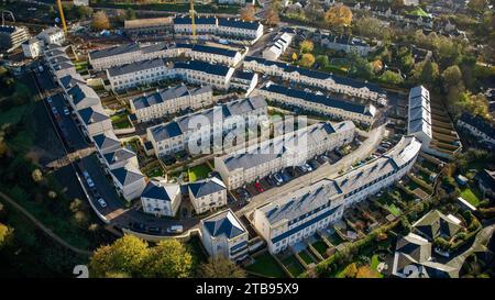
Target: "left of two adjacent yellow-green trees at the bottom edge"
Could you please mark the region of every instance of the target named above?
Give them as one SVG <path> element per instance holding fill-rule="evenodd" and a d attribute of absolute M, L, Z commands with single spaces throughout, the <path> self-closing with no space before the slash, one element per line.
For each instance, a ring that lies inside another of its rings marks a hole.
<path fill-rule="evenodd" d="M 92 277 L 107 277 L 111 273 L 138 276 L 148 255 L 147 243 L 134 235 L 124 235 L 113 244 L 99 247 L 89 260 Z"/>

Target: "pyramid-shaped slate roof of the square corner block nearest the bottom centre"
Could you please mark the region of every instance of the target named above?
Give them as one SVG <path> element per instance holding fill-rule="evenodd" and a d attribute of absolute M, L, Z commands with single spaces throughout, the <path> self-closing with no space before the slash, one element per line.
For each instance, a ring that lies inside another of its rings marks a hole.
<path fill-rule="evenodd" d="M 211 236 L 226 236 L 231 240 L 246 232 L 241 221 L 229 209 L 204 219 L 202 226 Z"/>

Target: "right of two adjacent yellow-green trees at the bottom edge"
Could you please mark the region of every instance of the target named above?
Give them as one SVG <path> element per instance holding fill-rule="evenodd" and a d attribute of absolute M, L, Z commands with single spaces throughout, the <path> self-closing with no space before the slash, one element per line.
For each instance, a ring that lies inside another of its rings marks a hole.
<path fill-rule="evenodd" d="M 191 271 L 193 256 L 179 241 L 164 240 L 150 249 L 144 266 L 146 277 L 186 278 Z"/>

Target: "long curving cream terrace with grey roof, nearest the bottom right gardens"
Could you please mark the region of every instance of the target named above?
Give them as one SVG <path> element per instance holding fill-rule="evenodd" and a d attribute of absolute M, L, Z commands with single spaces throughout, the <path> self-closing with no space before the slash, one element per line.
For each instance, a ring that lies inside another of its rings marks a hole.
<path fill-rule="evenodd" d="M 344 209 L 399 180 L 415 164 L 420 148 L 415 136 L 403 136 L 380 158 L 257 208 L 253 225 L 268 251 L 278 253 L 340 220 Z"/>

